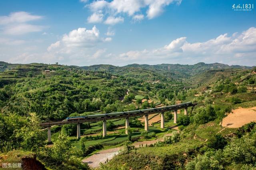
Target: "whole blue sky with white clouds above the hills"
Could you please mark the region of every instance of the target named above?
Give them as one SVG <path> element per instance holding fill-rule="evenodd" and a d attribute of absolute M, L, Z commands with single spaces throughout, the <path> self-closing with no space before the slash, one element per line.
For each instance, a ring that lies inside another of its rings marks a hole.
<path fill-rule="evenodd" d="M 245 3 L 246 2 L 246 3 Z M 256 65 L 256 14 L 246 0 L 8 0 L 0 60 L 67 65 Z"/>

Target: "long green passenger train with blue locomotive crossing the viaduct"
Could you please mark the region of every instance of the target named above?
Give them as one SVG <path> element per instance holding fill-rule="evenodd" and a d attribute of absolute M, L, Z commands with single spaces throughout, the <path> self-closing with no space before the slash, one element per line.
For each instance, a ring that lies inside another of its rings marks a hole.
<path fill-rule="evenodd" d="M 152 111 L 164 111 L 168 109 L 179 109 L 180 107 L 190 106 L 192 102 L 181 103 L 178 105 L 165 106 L 165 107 L 157 107 L 152 109 L 142 109 L 136 111 L 126 111 L 126 112 L 116 112 L 116 113 L 105 113 L 100 115 L 87 115 L 87 116 L 77 116 L 77 117 L 67 117 L 66 121 L 83 121 L 85 119 L 95 119 L 95 118 L 104 118 L 104 117 L 115 117 L 115 116 L 123 116 L 123 115 L 136 115 L 138 113 L 147 113 Z"/>

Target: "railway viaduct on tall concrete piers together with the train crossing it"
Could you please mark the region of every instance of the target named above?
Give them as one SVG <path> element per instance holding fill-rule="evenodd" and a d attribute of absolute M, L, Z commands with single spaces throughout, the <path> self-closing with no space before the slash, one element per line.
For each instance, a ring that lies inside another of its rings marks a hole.
<path fill-rule="evenodd" d="M 41 127 L 48 127 L 48 142 L 51 142 L 51 126 L 54 125 L 68 125 L 68 124 L 77 124 L 77 138 L 80 138 L 80 124 L 85 122 L 97 122 L 103 121 L 103 136 L 107 135 L 106 130 L 106 121 L 112 119 L 120 119 L 125 118 L 125 132 L 127 134 L 127 128 L 129 127 L 129 117 L 139 117 L 145 116 L 145 130 L 148 131 L 148 115 L 161 113 L 161 128 L 164 128 L 164 112 L 174 111 L 174 123 L 177 121 L 177 111 L 179 109 L 184 109 L 184 115 L 187 115 L 188 107 L 194 107 L 197 103 L 182 103 L 178 105 L 171 105 L 165 107 L 151 108 L 151 109 L 143 109 L 136 111 L 126 111 L 126 112 L 118 112 L 118 113 L 106 113 L 100 115 L 89 115 L 84 117 L 71 117 L 71 119 L 66 119 L 66 121 L 58 121 L 58 122 L 47 122 L 41 123 Z"/>

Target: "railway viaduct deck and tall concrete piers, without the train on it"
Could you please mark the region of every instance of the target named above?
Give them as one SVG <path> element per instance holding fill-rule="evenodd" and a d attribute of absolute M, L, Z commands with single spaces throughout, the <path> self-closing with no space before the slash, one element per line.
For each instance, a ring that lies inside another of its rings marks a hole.
<path fill-rule="evenodd" d="M 80 138 L 80 124 L 85 122 L 97 122 L 97 121 L 103 121 L 103 136 L 107 135 L 107 129 L 106 129 L 106 121 L 112 120 L 112 119 L 125 119 L 125 132 L 127 134 L 127 128 L 129 127 L 129 117 L 141 117 L 145 116 L 145 130 L 148 131 L 148 115 L 160 113 L 161 114 L 161 128 L 164 128 L 164 112 L 167 111 L 173 111 L 174 112 L 174 123 L 177 121 L 177 111 L 179 109 L 184 109 L 184 115 L 187 115 L 188 113 L 188 107 L 194 107 L 197 105 L 197 103 L 190 103 L 189 105 L 173 105 L 170 109 L 162 109 L 157 111 L 152 111 L 152 109 L 144 109 L 141 113 L 135 113 L 135 114 L 120 114 L 115 116 L 110 116 L 110 114 L 102 114 L 102 116 L 94 118 L 94 119 L 84 119 L 80 121 L 58 121 L 58 122 L 47 122 L 47 123 L 41 123 L 41 127 L 48 127 L 48 142 L 51 142 L 51 126 L 54 125 L 67 125 L 67 124 L 77 124 L 77 138 Z M 149 111 L 151 110 L 151 111 Z"/>

